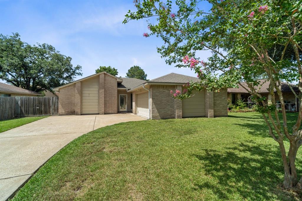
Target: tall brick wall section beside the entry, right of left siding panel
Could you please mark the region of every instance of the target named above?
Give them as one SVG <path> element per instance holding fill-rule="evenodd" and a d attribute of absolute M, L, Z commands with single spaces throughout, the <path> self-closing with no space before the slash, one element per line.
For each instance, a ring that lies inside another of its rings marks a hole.
<path fill-rule="evenodd" d="M 117 113 L 117 79 L 110 75 L 103 74 L 105 78 L 104 85 L 104 113 Z"/>

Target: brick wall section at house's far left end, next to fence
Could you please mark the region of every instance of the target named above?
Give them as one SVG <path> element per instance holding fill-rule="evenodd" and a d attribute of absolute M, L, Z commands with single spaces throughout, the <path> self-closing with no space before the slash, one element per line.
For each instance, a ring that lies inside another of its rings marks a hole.
<path fill-rule="evenodd" d="M 75 84 L 60 88 L 59 115 L 75 115 L 75 88 Z"/>

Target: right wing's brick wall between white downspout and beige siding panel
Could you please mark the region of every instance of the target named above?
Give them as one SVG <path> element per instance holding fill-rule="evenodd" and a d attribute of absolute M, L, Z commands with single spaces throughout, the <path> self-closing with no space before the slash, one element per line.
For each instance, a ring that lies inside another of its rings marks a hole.
<path fill-rule="evenodd" d="M 174 99 L 170 90 L 181 90 L 181 85 L 151 85 L 151 119 L 182 118 L 182 101 Z"/>

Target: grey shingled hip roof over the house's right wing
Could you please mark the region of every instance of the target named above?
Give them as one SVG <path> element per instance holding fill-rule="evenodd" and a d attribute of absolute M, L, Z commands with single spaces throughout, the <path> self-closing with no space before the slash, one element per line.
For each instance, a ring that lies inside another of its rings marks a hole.
<path fill-rule="evenodd" d="M 187 83 L 190 81 L 199 81 L 198 78 L 177 73 L 169 73 L 159 78 L 152 79 L 148 82 L 169 82 L 169 83 Z"/>

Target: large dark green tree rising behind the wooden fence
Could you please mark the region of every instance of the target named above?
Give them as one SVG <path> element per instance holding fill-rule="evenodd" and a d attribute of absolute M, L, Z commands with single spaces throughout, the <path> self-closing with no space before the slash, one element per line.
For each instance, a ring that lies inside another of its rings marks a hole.
<path fill-rule="evenodd" d="M 31 46 L 22 42 L 18 33 L 0 34 L 0 79 L 9 84 L 36 92 L 52 91 L 82 75 L 81 69 L 51 45 Z"/>

